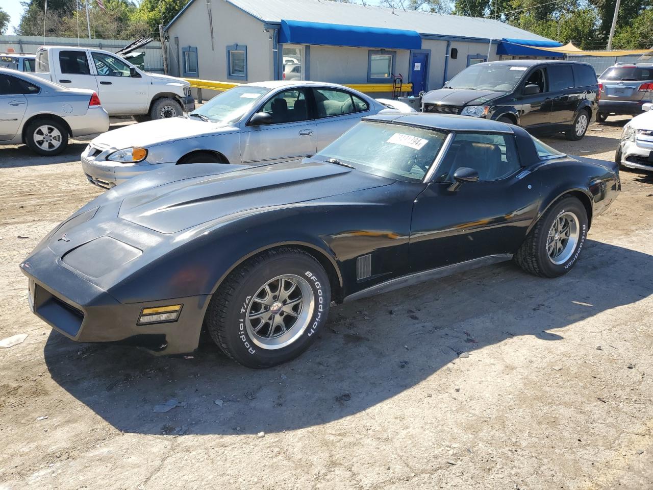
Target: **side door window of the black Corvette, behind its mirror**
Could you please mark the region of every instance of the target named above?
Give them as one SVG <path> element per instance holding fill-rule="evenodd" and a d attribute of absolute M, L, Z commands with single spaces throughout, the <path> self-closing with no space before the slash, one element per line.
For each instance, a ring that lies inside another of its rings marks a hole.
<path fill-rule="evenodd" d="M 500 180 L 517 172 L 521 165 L 513 135 L 458 133 L 436 171 L 436 182 L 452 182 L 460 167 L 479 172 L 479 181 Z"/>

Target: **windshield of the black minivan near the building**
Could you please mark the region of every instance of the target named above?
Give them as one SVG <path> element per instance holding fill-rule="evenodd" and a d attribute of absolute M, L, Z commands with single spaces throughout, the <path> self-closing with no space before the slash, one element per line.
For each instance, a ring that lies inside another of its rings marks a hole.
<path fill-rule="evenodd" d="M 467 67 L 458 73 L 445 85 L 445 88 L 511 92 L 524 76 L 524 73 L 526 73 L 526 67 L 479 63 L 478 65 L 471 65 L 471 67 Z"/>

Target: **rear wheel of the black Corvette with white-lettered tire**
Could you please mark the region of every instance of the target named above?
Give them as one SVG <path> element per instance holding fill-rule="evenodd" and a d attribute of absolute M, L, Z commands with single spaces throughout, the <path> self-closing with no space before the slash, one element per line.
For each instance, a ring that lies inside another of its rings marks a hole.
<path fill-rule="evenodd" d="M 562 276 L 576 264 L 587 229 L 587 212 L 582 203 L 575 197 L 564 197 L 535 223 L 515 254 L 515 261 L 535 276 Z"/>

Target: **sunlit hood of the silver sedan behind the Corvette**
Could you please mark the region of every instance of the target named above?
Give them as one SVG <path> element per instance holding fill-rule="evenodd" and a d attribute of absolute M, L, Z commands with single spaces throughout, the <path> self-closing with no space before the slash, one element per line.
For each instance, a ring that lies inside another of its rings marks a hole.
<path fill-rule="evenodd" d="M 98 148 L 115 148 L 116 150 L 130 146 L 148 148 L 155 144 L 174 140 L 231 133 L 232 131 L 238 131 L 238 129 L 221 123 L 204 122 L 196 118 L 168 118 L 107 131 L 93 139 L 91 144 Z"/>

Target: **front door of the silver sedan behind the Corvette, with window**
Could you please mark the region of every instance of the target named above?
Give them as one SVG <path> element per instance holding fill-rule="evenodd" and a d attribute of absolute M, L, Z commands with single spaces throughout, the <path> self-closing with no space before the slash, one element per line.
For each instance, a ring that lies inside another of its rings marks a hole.
<path fill-rule="evenodd" d="M 307 95 L 305 88 L 282 90 L 259 107 L 257 112 L 270 114 L 272 123 L 244 123 L 240 131 L 242 163 L 272 163 L 316 153 L 317 128 Z"/>

